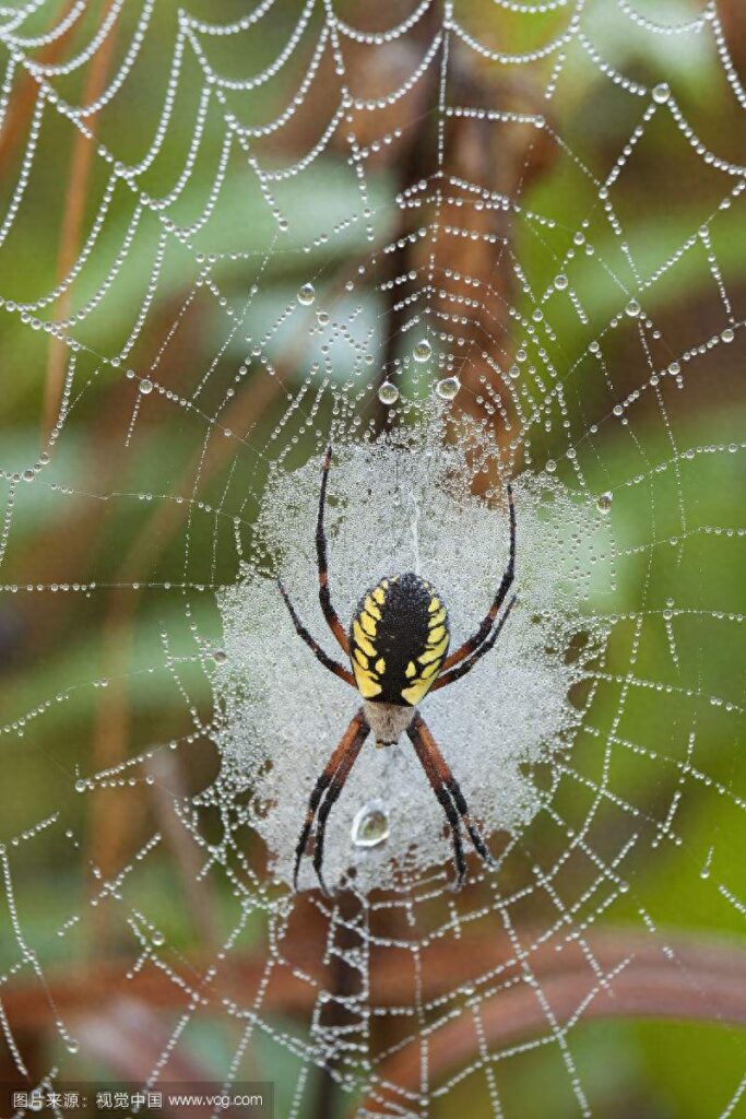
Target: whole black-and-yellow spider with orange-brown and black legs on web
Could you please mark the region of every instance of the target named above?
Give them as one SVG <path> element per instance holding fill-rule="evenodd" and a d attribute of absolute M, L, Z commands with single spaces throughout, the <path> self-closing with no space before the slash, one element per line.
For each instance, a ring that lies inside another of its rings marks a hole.
<path fill-rule="evenodd" d="M 370 731 L 374 732 L 376 744 L 379 746 L 394 745 L 406 732 L 451 828 L 456 868 L 453 887 L 457 890 L 466 873 L 461 820 L 481 858 L 490 865 L 494 865 L 494 861 L 469 816 L 469 807 L 459 782 L 419 714 L 417 704 L 428 692 L 437 692 L 438 688 L 454 684 L 471 671 L 476 661 L 488 653 L 497 641 L 516 603 L 513 595 L 495 624 L 500 608 L 513 582 L 516 567 L 516 509 L 512 489 L 508 486 L 510 553 L 498 593 L 475 632 L 455 652 L 447 656 L 450 631 L 445 604 L 432 583 L 413 572 L 389 575 L 366 591 L 352 618 L 349 632 L 344 632 L 331 602 L 324 533 L 324 507 L 331 457 L 332 448 L 329 444 L 321 473 L 315 534 L 319 599 L 331 632 L 350 658 L 352 671 L 324 652 L 301 622 L 280 580 L 277 585 L 299 637 L 305 641 L 324 668 L 358 689 L 362 697 L 362 706 L 352 717 L 311 793 L 305 821 L 295 847 L 293 884 L 298 890 L 301 859 L 318 814 L 313 868 L 321 888 L 329 894 L 322 876 L 329 814 Z"/>

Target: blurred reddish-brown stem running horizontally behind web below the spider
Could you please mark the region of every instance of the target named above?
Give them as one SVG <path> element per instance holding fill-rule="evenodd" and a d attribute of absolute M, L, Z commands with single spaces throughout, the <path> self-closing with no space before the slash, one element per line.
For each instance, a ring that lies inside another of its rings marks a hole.
<path fill-rule="evenodd" d="M 530 930 L 520 931 L 520 935 L 525 946 L 536 942 Z M 563 951 L 557 952 L 556 941 L 548 941 L 530 951 L 527 961 L 560 1024 L 580 1010 L 583 1005 L 579 1021 L 634 1016 L 746 1025 L 746 940 L 671 933 L 664 942 L 670 955 L 663 952 L 662 940 L 645 932 L 629 929 L 588 931 L 585 944 L 602 972 L 607 975 L 605 986 L 591 970 L 580 948 L 572 942 L 565 943 Z M 423 1002 L 451 994 L 454 1005 L 457 1005 L 457 989 L 466 984 L 476 987 L 479 994 L 479 986 L 474 982 L 475 970 L 485 977 L 485 981 L 489 979 L 491 987 L 499 981 L 491 975 L 495 968 L 503 967 L 506 978 L 514 977 L 517 963 L 499 943 L 494 937 L 483 934 L 465 937 L 451 944 L 432 944 L 427 950 L 428 967 L 423 972 Z M 263 949 L 252 956 L 235 953 L 233 959 L 228 957 L 209 981 L 204 979 L 215 966 L 215 958 L 209 952 L 191 957 L 179 955 L 173 960 L 167 949 L 162 955 L 166 962 L 170 962 L 183 978 L 186 987 L 198 989 L 206 1004 L 215 1002 L 220 1013 L 221 995 L 226 988 L 243 1005 L 251 1003 L 251 993 L 266 977 Z M 267 1012 L 305 1017 L 318 999 L 319 987 L 328 990 L 332 986 L 330 965 L 321 962 L 318 944 L 309 946 L 304 928 L 300 925 L 292 943 L 284 946 L 283 955 L 286 963 L 277 966 L 263 1006 Z M 627 962 L 621 967 L 624 961 Z M 185 987 L 154 967 L 144 967 L 128 979 L 125 972 L 131 962 L 129 957 L 120 957 L 81 963 L 78 967 L 66 965 L 57 972 L 47 971 L 46 988 L 36 980 L 9 979 L 2 998 L 8 1019 L 18 1032 L 51 1029 L 55 1013 L 50 1008 L 50 998 L 55 1012 L 58 1010 L 59 1017 L 66 1021 L 85 1016 L 93 1007 L 97 1008 L 102 994 L 107 997 L 128 995 L 162 1009 L 178 1012 L 183 1008 L 188 1000 Z M 618 972 L 612 976 L 615 968 Z M 299 981 L 299 971 L 306 977 L 305 981 Z M 371 1002 L 376 1006 L 402 1005 L 400 957 L 391 961 L 386 950 L 372 950 L 370 977 Z M 593 997 L 589 998 L 591 995 Z M 480 1010 L 493 1046 L 508 1045 L 549 1029 L 535 989 L 525 984 L 483 999 Z M 437 1056 L 437 1061 L 431 1061 L 435 1074 L 441 1074 L 454 1063 L 453 1054 L 463 1060 L 476 1052 L 473 1031 L 460 1026 L 463 1018 L 448 1022 L 431 1034 L 431 1053 Z M 441 1037 L 447 1038 L 448 1044 Z M 412 1078 L 410 1082 L 418 1084 L 418 1043 L 413 1041 L 410 1047 L 403 1049 L 381 1065 L 379 1072 L 381 1078 L 388 1079 L 394 1079 L 396 1074 L 397 1083 L 409 1082 L 407 1078 Z"/>

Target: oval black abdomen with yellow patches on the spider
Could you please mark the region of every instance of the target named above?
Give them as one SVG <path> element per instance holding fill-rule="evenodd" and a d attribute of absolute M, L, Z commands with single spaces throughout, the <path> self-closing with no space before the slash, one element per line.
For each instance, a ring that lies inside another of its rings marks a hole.
<path fill-rule="evenodd" d="M 367 591 L 350 626 L 350 660 L 363 699 L 414 707 L 437 678 L 448 614 L 432 583 L 407 572 Z"/>

